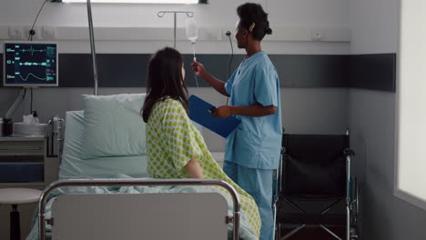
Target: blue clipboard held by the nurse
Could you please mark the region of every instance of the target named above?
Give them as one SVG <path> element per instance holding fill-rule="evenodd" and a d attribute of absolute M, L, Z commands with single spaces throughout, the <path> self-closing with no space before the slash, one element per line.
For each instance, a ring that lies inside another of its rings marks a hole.
<path fill-rule="evenodd" d="M 199 125 L 207 127 L 218 135 L 228 137 L 239 123 L 241 123 L 241 120 L 232 115 L 226 118 L 215 117 L 210 114 L 210 110 L 213 108 L 215 108 L 214 105 L 208 104 L 208 102 L 198 96 L 189 96 L 189 118 Z"/>

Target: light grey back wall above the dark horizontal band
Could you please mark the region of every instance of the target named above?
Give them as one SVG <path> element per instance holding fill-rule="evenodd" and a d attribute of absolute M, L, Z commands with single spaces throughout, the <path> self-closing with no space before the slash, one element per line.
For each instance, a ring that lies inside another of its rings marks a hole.
<path fill-rule="evenodd" d="M 32 25 L 39 7 L 44 2 L 43 0 L 1 1 L 0 38 L 9 37 L 8 28 L 10 26 L 25 27 L 25 25 Z M 218 36 L 221 40 L 198 41 L 198 53 L 228 54 L 228 38 L 222 35 L 221 32 L 222 30 L 224 32 L 227 30 L 234 32 L 238 20 L 236 8 L 246 1 L 215 0 L 210 2 L 208 5 L 93 5 L 94 26 L 106 27 L 106 33 L 95 31 L 95 35 L 97 33 L 98 36 L 96 39 L 100 39 L 96 41 L 96 51 L 98 53 L 153 53 L 164 45 L 173 45 L 173 31 L 171 29 L 173 15 L 167 14 L 159 18 L 157 17 L 157 12 L 177 10 L 194 12 L 200 30 L 219 31 L 218 34 L 215 32 L 210 34 Z M 269 22 L 275 32 L 265 38 L 263 47 L 267 52 L 271 54 L 349 53 L 348 1 L 258 0 L 252 2 L 259 3 L 270 11 Z M 38 17 L 36 26 L 56 27 L 56 38 L 63 39 L 59 43 L 61 53 L 89 52 L 88 41 L 81 39 L 82 37 L 88 37 L 86 15 L 85 4 L 47 3 Z M 186 15 L 177 15 L 178 28 L 183 27 L 186 17 Z M 120 27 L 120 29 L 117 29 L 117 27 Z M 166 29 L 168 32 L 161 32 L 161 29 Z M 346 40 L 345 42 L 332 42 L 331 44 L 330 42 L 311 42 L 311 29 L 322 29 L 324 31 L 324 40 L 341 39 L 341 35 Z M 140 33 L 141 31 L 143 33 Z M 42 29 L 40 30 L 41 32 Z M 101 35 L 102 33 L 108 36 Z M 200 33 L 200 36 L 203 33 Z M 146 35 L 144 36 L 144 34 Z M 182 40 L 185 40 L 181 32 L 177 34 L 177 38 L 182 37 Z M 139 38 L 148 37 L 147 35 L 161 35 L 161 40 L 138 40 Z M 167 35 L 169 36 L 168 41 Z M 307 37 L 309 37 L 309 41 L 307 41 Z M 77 38 L 79 40 L 66 40 L 69 38 Z M 102 38 L 106 38 L 107 41 L 102 41 Z M 136 40 L 127 41 L 125 45 L 118 47 L 117 43 L 119 41 L 117 39 Z M 303 41 L 295 43 L 294 41 L 277 41 L 277 39 Z M 191 53 L 188 41 L 178 41 L 177 49 L 182 53 Z M 243 52 L 237 50 L 236 53 L 242 54 Z"/>

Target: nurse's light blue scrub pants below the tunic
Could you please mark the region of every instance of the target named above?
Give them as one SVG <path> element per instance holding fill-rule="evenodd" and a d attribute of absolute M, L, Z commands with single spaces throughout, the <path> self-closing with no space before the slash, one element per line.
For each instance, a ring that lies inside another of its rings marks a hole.
<path fill-rule="evenodd" d="M 251 195 L 259 206 L 260 240 L 273 240 L 272 175 L 274 170 L 249 168 L 225 161 L 223 171 L 232 181 Z"/>

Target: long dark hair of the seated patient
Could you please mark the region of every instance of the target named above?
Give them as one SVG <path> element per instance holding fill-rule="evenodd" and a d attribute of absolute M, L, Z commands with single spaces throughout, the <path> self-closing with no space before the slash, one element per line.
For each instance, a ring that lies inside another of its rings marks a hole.
<path fill-rule="evenodd" d="M 188 109 L 188 89 L 182 76 L 183 58 L 177 50 L 165 47 L 152 55 L 147 71 L 147 97 L 141 114 L 147 123 L 152 107 L 169 96 Z"/>

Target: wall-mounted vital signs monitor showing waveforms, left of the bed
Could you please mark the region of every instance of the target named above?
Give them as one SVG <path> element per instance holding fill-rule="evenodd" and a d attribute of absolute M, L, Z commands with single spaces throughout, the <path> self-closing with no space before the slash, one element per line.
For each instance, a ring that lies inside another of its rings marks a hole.
<path fill-rule="evenodd" d="M 58 85 L 56 43 L 6 42 L 3 49 L 3 85 Z"/>

